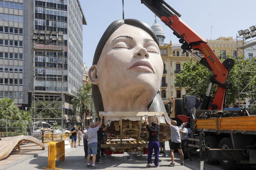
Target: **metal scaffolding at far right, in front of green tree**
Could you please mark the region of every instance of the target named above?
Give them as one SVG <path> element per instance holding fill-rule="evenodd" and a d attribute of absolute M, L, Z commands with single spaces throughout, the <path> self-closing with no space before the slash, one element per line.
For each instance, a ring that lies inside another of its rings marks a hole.
<path fill-rule="evenodd" d="M 256 50 L 255 47 L 256 46 L 256 38 L 250 38 L 248 41 L 245 40 L 243 35 L 237 35 L 236 34 L 236 48 L 237 48 L 237 54 L 239 54 L 238 52 L 240 52 L 240 54 L 243 54 L 243 58 L 239 58 L 239 56 L 237 56 L 237 76 L 238 76 L 238 102 L 239 105 L 242 106 L 246 106 L 247 104 L 240 104 L 240 101 L 243 101 L 243 99 L 240 99 L 240 96 L 246 96 L 249 97 L 251 95 L 255 95 L 256 91 L 248 91 L 247 87 L 256 80 L 256 72 L 255 71 L 250 71 L 248 69 L 250 69 L 250 66 L 247 65 L 245 63 L 245 60 L 247 60 L 246 56 L 244 55 L 244 49 L 246 48 L 253 48 Z M 256 63 L 254 63 L 256 66 Z M 248 80 L 248 83 L 246 83 L 245 86 L 240 87 L 239 82 L 241 79 L 241 75 L 242 74 L 247 74 L 247 73 L 254 73 L 255 76 Z M 254 101 L 252 101 L 252 103 L 250 103 L 251 106 L 256 106 L 255 103 L 255 99 L 253 99 Z"/>

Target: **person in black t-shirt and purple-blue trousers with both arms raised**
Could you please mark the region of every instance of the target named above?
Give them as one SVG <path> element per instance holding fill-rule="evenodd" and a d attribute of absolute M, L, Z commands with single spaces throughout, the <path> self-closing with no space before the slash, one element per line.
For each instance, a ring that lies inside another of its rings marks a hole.
<path fill-rule="evenodd" d="M 148 129 L 149 132 L 149 136 L 148 136 L 148 164 L 147 166 L 151 166 L 152 164 L 152 154 L 153 154 L 153 149 L 155 152 L 155 161 L 154 164 L 156 167 L 159 167 L 159 163 L 158 163 L 158 159 L 159 159 L 159 148 L 160 148 L 160 144 L 159 144 L 159 130 L 160 130 L 160 122 L 158 119 L 158 115 L 155 115 L 156 118 L 156 122 L 152 122 L 151 126 L 149 126 L 148 124 L 148 115 L 145 114 L 145 122 L 146 122 L 146 127 Z"/>

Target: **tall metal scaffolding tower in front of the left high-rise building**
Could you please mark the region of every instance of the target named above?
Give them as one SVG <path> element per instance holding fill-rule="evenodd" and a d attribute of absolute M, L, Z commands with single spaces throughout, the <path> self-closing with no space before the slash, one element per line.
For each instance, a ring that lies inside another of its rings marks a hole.
<path fill-rule="evenodd" d="M 62 39 L 63 40 L 63 39 Z M 43 53 L 43 55 L 46 58 L 46 53 L 45 52 L 57 52 L 57 54 L 61 54 L 60 56 L 56 55 L 56 59 L 55 60 L 49 60 L 49 64 L 45 64 L 45 67 L 43 67 L 43 64 L 40 70 L 36 70 L 36 68 L 38 66 L 35 65 L 35 52 L 36 51 L 41 51 Z M 46 122 L 45 119 L 55 119 L 55 120 L 61 120 L 61 131 L 63 133 L 63 109 L 64 109 L 64 94 L 63 94 L 63 88 L 64 88 L 64 66 L 65 66 L 65 56 L 64 56 L 64 51 L 66 51 L 64 49 L 64 43 L 62 41 L 62 43 L 58 44 L 58 41 L 54 42 L 54 41 L 38 41 L 38 40 L 34 40 L 33 41 L 33 48 L 32 48 L 32 54 L 33 54 L 33 90 L 32 90 L 32 104 L 31 104 L 31 117 L 32 117 L 32 121 L 36 122 L 36 120 L 40 120 L 42 122 Z M 62 60 L 62 63 L 59 62 Z M 52 65 L 56 64 L 56 76 L 54 74 L 49 74 L 48 77 L 46 77 L 46 73 L 49 72 L 50 70 L 48 68 L 51 68 Z M 62 65 L 61 65 L 62 64 Z M 47 71 L 47 69 L 49 71 Z M 44 76 L 40 76 L 41 74 Z M 61 73 L 61 92 L 59 92 L 59 88 L 58 88 L 58 80 L 60 79 L 59 74 Z M 50 80 L 50 79 L 55 79 L 57 80 L 56 82 L 56 91 L 47 91 L 46 89 L 46 85 L 45 85 L 45 90 L 39 90 L 36 89 L 36 80 L 39 80 L 41 78 L 41 80 Z M 52 95 L 52 96 L 56 96 L 54 97 L 54 100 L 50 101 L 48 105 L 45 105 L 41 100 L 40 100 L 40 95 L 43 95 L 45 93 L 56 93 L 56 95 Z M 59 93 L 58 93 L 59 92 Z M 50 105 L 52 105 L 54 102 L 56 101 L 60 101 L 61 102 L 61 107 L 58 108 L 52 108 L 50 107 Z M 39 108 L 35 106 L 36 102 L 40 102 L 42 104 L 42 106 L 44 106 L 43 108 Z M 36 109 L 40 109 L 41 111 L 39 113 L 36 113 Z M 44 118 L 40 116 L 40 113 L 43 112 L 44 110 L 49 110 L 49 112 L 52 112 L 56 117 L 54 118 Z M 54 113 L 53 109 L 61 109 L 61 116 L 57 115 L 56 113 Z M 47 123 L 47 122 L 46 122 Z M 52 127 L 52 125 L 50 125 L 49 123 L 47 123 L 50 127 Z M 35 126 L 33 126 L 33 131 Z M 31 129 L 32 130 L 32 129 Z"/>

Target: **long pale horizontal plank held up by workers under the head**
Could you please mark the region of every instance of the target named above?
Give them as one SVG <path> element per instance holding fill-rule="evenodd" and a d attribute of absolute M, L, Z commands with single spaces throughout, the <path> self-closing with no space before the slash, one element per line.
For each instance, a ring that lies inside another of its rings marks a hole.
<path fill-rule="evenodd" d="M 103 116 L 120 116 L 120 117 L 130 117 L 130 116 L 144 116 L 148 114 L 148 116 L 163 116 L 164 112 L 100 112 L 99 115 Z"/>

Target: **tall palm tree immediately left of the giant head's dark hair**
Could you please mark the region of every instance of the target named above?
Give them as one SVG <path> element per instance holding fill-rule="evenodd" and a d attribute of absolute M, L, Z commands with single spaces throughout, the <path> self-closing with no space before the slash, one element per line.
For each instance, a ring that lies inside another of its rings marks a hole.
<path fill-rule="evenodd" d="M 94 109 L 92 102 L 92 84 L 87 83 L 80 87 L 77 92 L 77 97 L 72 99 L 73 110 L 80 111 L 80 118 L 83 119 L 83 113 L 85 112 L 85 118 L 89 110 Z M 85 121 L 86 122 L 86 121 Z"/>

